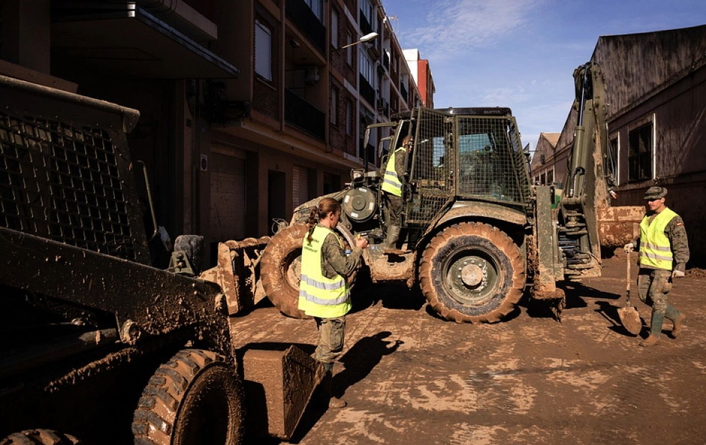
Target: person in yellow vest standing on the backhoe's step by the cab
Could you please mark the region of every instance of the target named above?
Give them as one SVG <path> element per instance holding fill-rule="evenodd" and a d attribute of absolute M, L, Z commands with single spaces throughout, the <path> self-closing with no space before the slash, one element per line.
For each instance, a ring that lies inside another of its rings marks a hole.
<path fill-rule="evenodd" d="M 407 152 L 410 150 L 412 150 L 412 137 L 408 134 L 405 139 L 402 139 L 402 146 L 390 154 L 388 163 L 385 166 L 382 189 L 389 217 L 384 253 L 395 253 L 397 255 L 404 253 L 397 248 L 397 240 L 400 238 L 402 224 L 402 180 L 405 178 Z"/>

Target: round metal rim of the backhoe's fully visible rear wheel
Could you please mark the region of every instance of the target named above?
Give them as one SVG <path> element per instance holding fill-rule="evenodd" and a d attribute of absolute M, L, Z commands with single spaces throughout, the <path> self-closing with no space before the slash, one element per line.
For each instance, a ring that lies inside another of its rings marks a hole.
<path fill-rule="evenodd" d="M 443 287 L 463 305 L 488 303 L 502 286 L 500 262 L 484 248 L 460 248 L 443 262 Z"/>

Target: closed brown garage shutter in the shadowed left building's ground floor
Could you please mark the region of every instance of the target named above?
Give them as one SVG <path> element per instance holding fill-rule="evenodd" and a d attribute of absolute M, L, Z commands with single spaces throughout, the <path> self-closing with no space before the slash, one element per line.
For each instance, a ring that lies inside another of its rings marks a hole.
<path fill-rule="evenodd" d="M 245 159 L 211 152 L 211 239 L 245 238 Z"/>

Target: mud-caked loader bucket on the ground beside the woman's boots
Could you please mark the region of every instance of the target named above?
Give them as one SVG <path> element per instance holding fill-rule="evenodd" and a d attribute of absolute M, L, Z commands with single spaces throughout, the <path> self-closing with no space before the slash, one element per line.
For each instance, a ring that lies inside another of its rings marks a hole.
<path fill-rule="evenodd" d="M 323 366 L 296 346 L 285 351 L 250 349 L 243 372 L 253 436 L 288 440 L 324 375 Z M 266 422 L 266 424 L 265 424 Z"/>

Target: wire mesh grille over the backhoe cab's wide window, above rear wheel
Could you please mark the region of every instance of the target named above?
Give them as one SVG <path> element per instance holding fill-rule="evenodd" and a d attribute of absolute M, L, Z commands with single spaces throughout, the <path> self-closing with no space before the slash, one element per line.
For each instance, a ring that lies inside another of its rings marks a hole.
<path fill-rule="evenodd" d="M 458 195 L 506 202 L 530 197 L 513 117 L 458 117 Z"/>

